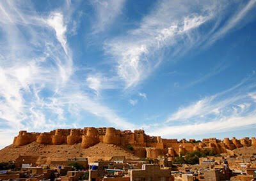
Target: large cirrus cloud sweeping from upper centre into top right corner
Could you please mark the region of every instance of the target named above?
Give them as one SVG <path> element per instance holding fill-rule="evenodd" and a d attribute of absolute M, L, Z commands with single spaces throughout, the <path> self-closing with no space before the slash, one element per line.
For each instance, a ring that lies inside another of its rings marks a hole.
<path fill-rule="evenodd" d="M 165 51 L 172 52 L 170 60 L 195 47 L 204 47 L 205 41 L 215 37 L 213 43 L 239 24 L 255 5 L 254 1 L 241 3 L 242 8 L 234 13 L 230 12 L 234 4 L 236 2 L 198 1 L 196 5 L 191 1 L 157 2 L 138 28 L 106 42 L 105 50 L 116 61 L 116 73 L 125 88 L 134 87 L 147 78 L 163 62 Z M 224 14 L 228 14 L 228 20 L 221 19 Z M 220 26 L 220 22 L 224 23 Z"/>

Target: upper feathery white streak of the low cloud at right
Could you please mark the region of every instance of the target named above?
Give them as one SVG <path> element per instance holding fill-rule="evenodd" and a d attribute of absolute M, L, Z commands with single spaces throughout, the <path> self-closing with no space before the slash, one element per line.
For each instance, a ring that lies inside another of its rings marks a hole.
<path fill-rule="evenodd" d="M 226 113 L 230 114 L 230 109 L 243 113 L 245 108 L 250 106 L 250 104 L 243 102 L 246 99 L 250 99 L 250 94 L 244 94 L 241 91 L 248 92 L 255 87 L 253 83 L 250 83 L 253 78 L 254 75 L 245 78 L 227 91 L 202 98 L 199 101 L 195 101 L 195 103 L 191 103 L 191 105 L 180 107 L 177 112 L 168 117 L 166 122 L 184 121 L 196 119 L 197 117 L 207 119 L 207 116 L 211 117 L 212 115 L 214 117 L 225 116 Z M 250 85 L 246 85 L 248 82 Z M 237 110 L 237 108 L 239 109 Z"/>

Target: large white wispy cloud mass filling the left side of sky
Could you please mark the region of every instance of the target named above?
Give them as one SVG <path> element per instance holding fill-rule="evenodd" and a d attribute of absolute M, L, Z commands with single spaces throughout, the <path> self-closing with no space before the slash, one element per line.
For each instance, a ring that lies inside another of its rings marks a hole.
<path fill-rule="evenodd" d="M 10 138 L 6 140 L 12 143 L 13 134 L 20 129 L 74 127 L 81 120 L 68 119 L 79 119 L 84 112 L 116 127 L 134 127 L 115 110 L 88 96 L 90 92 L 84 88 L 101 89 L 100 83 L 95 85 L 89 78 L 84 85 L 76 79 L 67 38 L 70 13 L 61 8 L 38 13 L 19 1 L 1 2 L 0 8 L 1 138 L 6 130 L 10 134 L 5 135 Z M 0 147 L 4 145 L 1 142 Z"/>

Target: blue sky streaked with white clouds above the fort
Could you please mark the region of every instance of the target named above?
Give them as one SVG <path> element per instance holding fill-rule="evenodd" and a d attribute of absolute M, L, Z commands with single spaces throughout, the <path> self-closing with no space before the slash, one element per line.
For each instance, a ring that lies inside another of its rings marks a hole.
<path fill-rule="evenodd" d="M 0 147 L 20 129 L 255 136 L 256 1 L 1 1 Z"/>

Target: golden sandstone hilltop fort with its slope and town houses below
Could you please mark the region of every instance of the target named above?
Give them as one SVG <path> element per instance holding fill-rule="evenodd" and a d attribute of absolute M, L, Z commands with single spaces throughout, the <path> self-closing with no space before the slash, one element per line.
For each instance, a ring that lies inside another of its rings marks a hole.
<path fill-rule="evenodd" d="M 3 180 L 253 180 L 255 138 L 164 139 L 114 127 L 20 131 Z M 4 164 L 5 163 L 5 164 Z"/>

